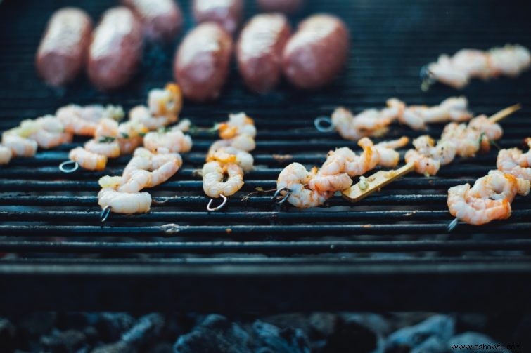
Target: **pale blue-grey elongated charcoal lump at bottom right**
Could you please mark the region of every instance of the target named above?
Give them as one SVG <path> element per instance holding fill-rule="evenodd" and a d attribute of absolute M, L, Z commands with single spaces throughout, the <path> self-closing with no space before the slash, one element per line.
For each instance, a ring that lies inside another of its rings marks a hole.
<path fill-rule="evenodd" d="M 447 315 L 433 315 L 414 326 L 400 328 L 392 333 L 387 340 L 388 352 L 399 346 L 417 347 L 428 338 L 435 336 L 447 342 L 455 332 L 455 320 Z"/>

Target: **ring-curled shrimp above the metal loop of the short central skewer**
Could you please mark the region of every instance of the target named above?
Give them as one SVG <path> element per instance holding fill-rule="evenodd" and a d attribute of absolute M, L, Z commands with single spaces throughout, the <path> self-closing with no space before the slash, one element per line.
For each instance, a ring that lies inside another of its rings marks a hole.
<path fill-rule="evenodd" d="M 231 196 L 241 187 L 243 170 L 237 164 L 222 165 L 218 161 L 210 161 L 203 166 L 203 190 L 209 197 Z"/>

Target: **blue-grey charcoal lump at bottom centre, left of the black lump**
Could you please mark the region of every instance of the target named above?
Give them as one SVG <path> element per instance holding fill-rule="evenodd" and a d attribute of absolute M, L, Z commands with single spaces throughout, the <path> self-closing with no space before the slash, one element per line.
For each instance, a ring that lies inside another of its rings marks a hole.
<path fill-rule="evenodd" d="M 267 322 L 252 324 L 256 353 L 309 353 L 309 342 L 298 328 L 278 328 Z"/>

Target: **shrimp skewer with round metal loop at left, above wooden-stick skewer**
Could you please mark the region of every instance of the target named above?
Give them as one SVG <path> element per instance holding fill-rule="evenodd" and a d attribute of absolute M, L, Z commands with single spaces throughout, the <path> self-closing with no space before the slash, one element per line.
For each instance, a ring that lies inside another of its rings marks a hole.
<path fill-rule="evenodd" d="M 367 109 L 354 115 L 344 107 L 334 110 L 331 118 L 321 116 L 314 124 L 321 132 L 336 130 L 341 137 L 357 141 L 364 137 L 380 137 L 388 131 L 393 121 L 408 125 L 414 130 L 426 130 L 426 124 L 445 121 L 468 121 L 472 114 L 468 112 L 468 100 L 464 97 L 452 97 L 433 107 L 423 105 L 407 106 L 397 98 L 390 98 L 384 109 Z M 330 126 L 322 126 L 327 122 Z"/>

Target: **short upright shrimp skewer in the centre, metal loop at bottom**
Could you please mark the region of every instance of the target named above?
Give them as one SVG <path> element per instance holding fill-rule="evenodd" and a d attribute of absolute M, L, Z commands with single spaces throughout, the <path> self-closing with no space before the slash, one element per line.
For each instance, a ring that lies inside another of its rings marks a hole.
<path fill-rule="evenodd" d="M 219 137 L 210 146 L 203 166 L 203 191 L 211 197 L 207 211 L 218 211 L 228 196 L 243 187 L 243 173 L 252 170 L 254 159 L 249 153 L 255 149 L 256 128 L 245 113 L 229 114 L 229 121 L 218 125 Z M 226 178 L 226 180 L 224 180 Z M 213 199 L 222 197 L 221 205 L 212 208 Z"/>

